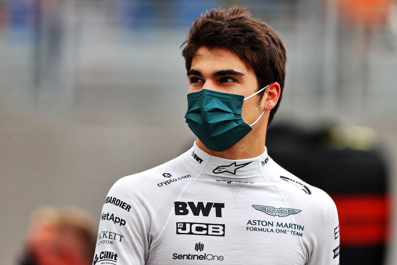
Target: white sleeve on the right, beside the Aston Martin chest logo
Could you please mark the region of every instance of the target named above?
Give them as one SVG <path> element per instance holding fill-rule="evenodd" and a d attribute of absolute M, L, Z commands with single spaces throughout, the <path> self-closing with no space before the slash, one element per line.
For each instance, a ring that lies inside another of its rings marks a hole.
<path fill-rule="evenodd" d="M 325 194 L 325 193 L 324 193 Z M 313 218 L 315 228 L 306 265 L 339 265 L 339 220 L 335 203 L 326 195 Z"/>

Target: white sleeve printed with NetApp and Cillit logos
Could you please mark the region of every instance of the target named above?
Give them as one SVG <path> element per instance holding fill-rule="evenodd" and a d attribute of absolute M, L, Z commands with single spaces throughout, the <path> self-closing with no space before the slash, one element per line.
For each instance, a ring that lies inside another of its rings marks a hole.
<path fill-rule="evenodd" d="M 148 256 L 150 215 L 139 188 L 120 179 L 102 208 L 93 265 L 143 265 Z"/>

